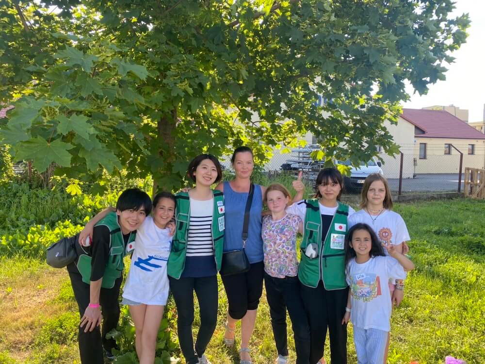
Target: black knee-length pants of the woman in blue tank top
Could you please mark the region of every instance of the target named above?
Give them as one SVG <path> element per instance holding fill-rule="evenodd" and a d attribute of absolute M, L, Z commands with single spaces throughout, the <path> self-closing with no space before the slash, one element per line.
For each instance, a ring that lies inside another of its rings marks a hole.
<path fill-rule="evenodd" d="M 256 310 L 263 293 L 264 263 L 250 265 L 247 272 L 221 276 L 226 290 L 229 316 L 240 320 L 247 310 Z"/>

